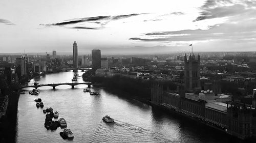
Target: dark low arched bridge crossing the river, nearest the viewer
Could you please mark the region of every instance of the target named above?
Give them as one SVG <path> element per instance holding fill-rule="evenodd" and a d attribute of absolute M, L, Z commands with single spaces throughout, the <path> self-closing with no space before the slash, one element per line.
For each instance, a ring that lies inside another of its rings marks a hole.
<path fill-rule="evenodd" d="M 92 85 L 92 82 L 81 82 L 81 83 L 50 83 L 50 84 L 37 84 L 37 85 L 25 85 L 22 87 L 23 88 L 39 88 L 39 87 L 53 87 L 53 89 L 55 90 L 55 87 L 57 87 L 58 85 L 71 85 L 72 89 L 75 88 L 75 85 L 78 85 L 78 84 L 87 84 L 88 85 L 88 88 L 91 88 L 91 85 Z"/>

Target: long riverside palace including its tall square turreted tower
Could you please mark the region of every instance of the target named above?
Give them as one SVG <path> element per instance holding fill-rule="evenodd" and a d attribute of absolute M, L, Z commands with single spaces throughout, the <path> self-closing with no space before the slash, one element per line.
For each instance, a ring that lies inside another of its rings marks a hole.
<path fill-rule="evenodd" d="M 215 86 L 201 90 L 200 55 L 189 55 L 188 59 L 185 55 L 184 84 L 170 91 L 168 85 L 155 82 L 151 102 L 239 138 L 255 137 L 256 92 L 250 97 L 251 105 L 218 92 Z"/>

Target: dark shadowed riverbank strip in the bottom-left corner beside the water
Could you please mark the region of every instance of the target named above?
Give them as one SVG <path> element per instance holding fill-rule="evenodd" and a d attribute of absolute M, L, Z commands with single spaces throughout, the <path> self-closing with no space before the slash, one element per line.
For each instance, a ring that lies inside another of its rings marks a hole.
<path fill-rule="evenodd" d="M 19 90 L 9 95 L 6 116 L 0 124 L 0 142 L 16 142 L 17 110 Z"/>

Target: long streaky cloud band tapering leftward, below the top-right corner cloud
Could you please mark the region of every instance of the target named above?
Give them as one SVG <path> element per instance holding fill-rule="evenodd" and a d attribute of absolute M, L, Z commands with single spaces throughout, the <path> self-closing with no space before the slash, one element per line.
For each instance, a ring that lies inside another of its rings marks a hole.
<path fill-rule="evenodd" d="M 203 40 L 233 40 L 256 37 L 256 19 L 243 19 L 237 22 L 227 22 L 211 25 L 207 30 L 181 30 L 167 32 L 152 32 L 143 35 L 143 38 L 133 37 L 129 40 L 143 42 L 178 42 L 178 41 L 203 41 Z"/>

